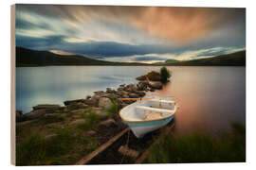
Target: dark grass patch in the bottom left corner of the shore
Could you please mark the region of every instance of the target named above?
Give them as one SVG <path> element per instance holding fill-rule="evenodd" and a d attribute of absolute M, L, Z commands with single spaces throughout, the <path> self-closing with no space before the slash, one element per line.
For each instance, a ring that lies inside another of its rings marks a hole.
<path fill-rule="evenodd" d="M 50 139 L 40 133 L 28 135 L 22 143 L 17 144 L 16 164 L 73 164 L 99 146 L 95 138 L 74 135 L 73 130 L 60 128 L 57 135 Z"/>

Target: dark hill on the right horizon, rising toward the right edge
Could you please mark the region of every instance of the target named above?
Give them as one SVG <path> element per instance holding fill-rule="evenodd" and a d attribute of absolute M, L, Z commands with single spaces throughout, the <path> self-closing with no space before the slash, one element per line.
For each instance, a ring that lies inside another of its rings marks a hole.
<path fill-rule="evenodd" d="M 192 59 L 178 61 L 168 59 L 159 65 L 181 65 L 181 66 L 246 66 L 246 50 L 220 55 L 207 59 Z"/>

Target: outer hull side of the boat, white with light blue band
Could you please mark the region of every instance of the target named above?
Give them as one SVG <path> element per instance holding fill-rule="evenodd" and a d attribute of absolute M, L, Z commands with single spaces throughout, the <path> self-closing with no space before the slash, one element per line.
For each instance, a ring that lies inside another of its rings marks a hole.
<path fill-rule="evenodd" d="M 127 125 L 130 127 L 130 129 L 133 131 L 135 136 L 137 138 L 143 137 L 146 133 L 149 133 L 151 131 L 154 131 L 160 127 L 166 126 L 169 122 L 171 122 L 174 119 L 174 115 L 163 119 L 163 120 L 157 120 L 157 121 L 151 121 L 151 122 L 144 122 L 144 123 L 127 123 Z"/>

